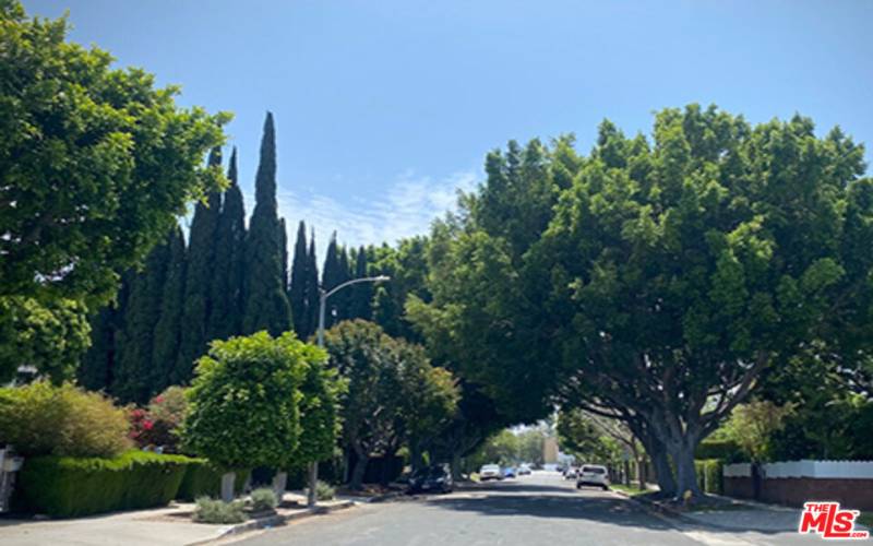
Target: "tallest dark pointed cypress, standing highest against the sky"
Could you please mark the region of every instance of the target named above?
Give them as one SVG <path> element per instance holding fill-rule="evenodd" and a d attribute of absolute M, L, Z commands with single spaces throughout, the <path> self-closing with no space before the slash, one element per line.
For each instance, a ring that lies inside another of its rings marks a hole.
<path fill-rule="evenodd" d="M 255 205 L 246 236 L 242 333 L 266 330 L 278 335 L 291 328 L 291 308 L 282 280 L 278 204 L 276 203 L 276 131 L 267 112 L 261 162 L 254 180 Z"/>

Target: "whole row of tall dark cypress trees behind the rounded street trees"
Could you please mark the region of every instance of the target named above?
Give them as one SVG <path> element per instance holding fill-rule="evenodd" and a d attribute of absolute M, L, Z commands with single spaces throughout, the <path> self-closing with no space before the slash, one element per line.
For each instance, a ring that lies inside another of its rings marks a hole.
<path fill-rule="evenodd" d="M 222 165 L 222 152 L 210 154 Z M 319 275 L 314 235 L 301 221 L 288 271 L 285 219 L 276 201 L 276 135 L 267 114 L 255 176 L 255 206 L 246 228 L 238 185 L 237 151 L 228 166 L 230 186 L 194 209 L 188 244 L 180 227 L 155 247 L 141 271 L 121 275 L 116 304 L 92 318 L 92 347 L 79 370 L 87 389 L 121 402 L 144 403 L 171 384 L 186 384 L 194 363 L 213 340 L 266 330 L 294 329 L 309 339 L 318 328 L 319 286 L 330 289 L 368 270 L 363 248 L 327 247 Z M 327 327 L 371 312 L 372 287 L 354 285 L 332 296 Z"/>

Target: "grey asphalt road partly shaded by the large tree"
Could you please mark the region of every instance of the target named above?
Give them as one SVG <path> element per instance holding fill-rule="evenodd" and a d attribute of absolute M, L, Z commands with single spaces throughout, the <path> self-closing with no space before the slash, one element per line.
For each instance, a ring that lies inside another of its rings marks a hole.
<path fill-rule="evenodd" d="M 235 542 L 292 545 L 774 545 L 821 542 L 792 533 L 727 533 L 653 515 L 612 491 L 577 491 L 557 473 L 535 473 L 451 495 L 364 505 Z"/>

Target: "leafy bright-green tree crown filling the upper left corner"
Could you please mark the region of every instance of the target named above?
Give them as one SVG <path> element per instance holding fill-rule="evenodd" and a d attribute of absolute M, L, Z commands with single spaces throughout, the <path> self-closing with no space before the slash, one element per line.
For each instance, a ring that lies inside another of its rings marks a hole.
<path fill-rule="evenodd" d="M 186 203 L 219 187 L 202 161 L 228 116 L 179 108 L 178 87 L 65 41 L 65 19 L 7 0 L 0 20 L 0 297 L 96 310 Z"/>

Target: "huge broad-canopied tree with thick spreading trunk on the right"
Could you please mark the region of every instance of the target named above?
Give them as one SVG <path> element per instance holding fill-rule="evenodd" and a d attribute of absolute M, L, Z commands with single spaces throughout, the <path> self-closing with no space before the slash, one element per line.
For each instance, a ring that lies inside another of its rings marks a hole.
<path fill-rule="evenodd" d="M 535 141 L 487 171 L 435 228 L 418 317 L 497 400 L 625 420 L 674 490 L 699 494 L 695 447 L 764 369 L 816 340 L 869 358 L 873 181 L 838 129 L 692 105 L 651 141 L 607 121 L 588 156 Z"/>

